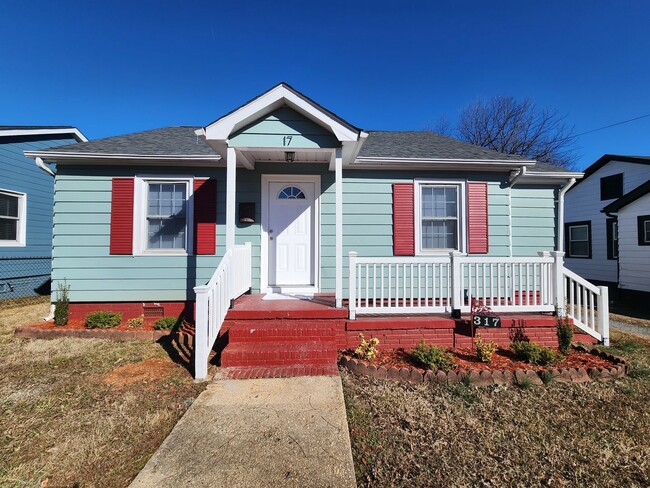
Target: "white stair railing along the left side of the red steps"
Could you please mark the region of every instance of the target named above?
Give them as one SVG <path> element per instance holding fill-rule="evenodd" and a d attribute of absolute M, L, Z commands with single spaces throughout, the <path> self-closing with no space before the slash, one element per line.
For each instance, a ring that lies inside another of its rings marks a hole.
<path fill-rule="evenodd" d="M 251 244 L 235 246 L 224 254 L 207 285 L 196 293 L 194 378 L 208 375 L 208 356 L 226 318 L 231 300 L 251 288 Z"/>

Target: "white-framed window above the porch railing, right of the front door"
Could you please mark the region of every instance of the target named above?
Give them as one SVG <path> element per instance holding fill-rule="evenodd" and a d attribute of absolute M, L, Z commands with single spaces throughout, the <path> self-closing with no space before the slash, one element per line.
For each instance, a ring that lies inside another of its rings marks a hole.
<path fill-rule="evenodd" d="M 465 183 L 423 180 L 414 187 L 416 252 L 465 252 Z"/>

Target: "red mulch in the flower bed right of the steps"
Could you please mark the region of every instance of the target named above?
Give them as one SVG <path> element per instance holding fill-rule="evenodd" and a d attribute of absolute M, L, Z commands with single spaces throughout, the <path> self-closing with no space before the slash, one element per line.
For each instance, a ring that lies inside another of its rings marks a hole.
<path fill-rule="evenodd" d="M 471 349 L 449 349 L 454 355 L 454 360 L 456 362 L 457 369 L 487 369 L 490 371 L 514 371 L 516 369 L 532 369 L 532 370 L 544 370 L 548 369 L 549 366 L 540 366 L 526 363 L 524 361 L 518 360 L 514 353 L 508 349 L 499 349 L 492 356 L 492 361 L 490 363 L 484 363 L 479 361 L 476 357 L 476 354 Z M 355 358 L 354 352 L 352 350 L 347 350 L 343 352 L 344 355 Z M 358 358 L 357 358 L 358 359 Z M 384 366 L 386 369 L 390 367 L 396 368 L 415 368 L 420 372 L 425 370 L 416 366 L 416 363 L 413 362 L 408 351 L 404 349 L 393 349 L 393 350 L 383 350 L 380 351 L 374 361 L 368 362 L 369 364 L 375 364 L 376 366 Z M 610 367 L 612 363 L 602 359 L 598 356 L 586 352 L 578 352 L 572 350 L 568 356 L 566 356 L 562 361 L 557 364 L 554 364 L 553 368 L 602 368 Z"/>

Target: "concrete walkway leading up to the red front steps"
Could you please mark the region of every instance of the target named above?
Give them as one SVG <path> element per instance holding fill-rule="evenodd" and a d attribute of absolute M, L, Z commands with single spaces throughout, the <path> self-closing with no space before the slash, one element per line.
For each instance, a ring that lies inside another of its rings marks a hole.
<path fill-rule="evenodd" d="M 131 486 L 356 486 L 341 378 L 211 383 Z"/>

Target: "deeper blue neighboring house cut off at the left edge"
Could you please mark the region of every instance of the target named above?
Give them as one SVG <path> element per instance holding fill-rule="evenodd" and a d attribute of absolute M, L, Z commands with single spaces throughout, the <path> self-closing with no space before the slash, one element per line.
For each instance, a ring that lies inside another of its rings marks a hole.
<path fill-rule="evenodd" d="M 50 292 L 54 172 L 23 151 L 82 141 L 74 127 L 0 126 L 0 301 Z"/>

